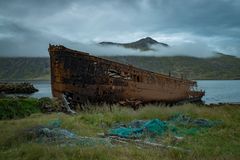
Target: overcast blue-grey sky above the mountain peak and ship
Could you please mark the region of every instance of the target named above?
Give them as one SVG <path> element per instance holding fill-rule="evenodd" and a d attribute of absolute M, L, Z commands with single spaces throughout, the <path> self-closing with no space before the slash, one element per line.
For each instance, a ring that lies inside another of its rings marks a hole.
<path fill-rule="evenodd" d="M 0 0 L 1 56 L 48 56 L 49 43 L 87 50 L 147 36 L 179 52 L 190 47 L 193 56 L 240 56 L 240 0 Z"/>

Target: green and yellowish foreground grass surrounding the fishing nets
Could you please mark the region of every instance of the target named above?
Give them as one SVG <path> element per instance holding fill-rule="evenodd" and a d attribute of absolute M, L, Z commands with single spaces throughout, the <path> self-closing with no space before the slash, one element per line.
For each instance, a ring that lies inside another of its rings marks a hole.
<path fill-rule="evenodd" d="M 75 116 L 64 113 L 36 113 L 16 120 L 0 121 L 0 159 L 239 159 L 240 157 L 240 106 L 218 107 L 185 104 L 176 107 L 148 105 L 137 111 L 113 106 L 88 106 L 88 111 Z M 190 149 L 185 153 L 173 149 L 139 148 L 127 146 L 81 147 L 38 144 L 21 137 L 23 129 L 44 125 L 60 119 L 61 127 L 81 136 L 96 136 L 116 122 L 134 119 L 160 118 L 166 120 L 176 113 L 192 117 L 221 120 L 215 126 L 196 135 L 184 137 L 176 146 Z"/>

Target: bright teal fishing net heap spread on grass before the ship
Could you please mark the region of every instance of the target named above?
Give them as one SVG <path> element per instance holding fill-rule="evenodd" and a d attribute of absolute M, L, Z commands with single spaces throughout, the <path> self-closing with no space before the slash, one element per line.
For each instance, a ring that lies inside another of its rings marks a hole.
<path fill-rule="evenodd" d="M 166 133 L 174 136 L 194 135 L 204 128 L 218 125 L 219 121 L 193 119 L 188 115 L 177 114 L 167 121 L 160 119 L 134 120 L 108 130 L 108 134 L 123 138 L 154 138 Z"/>

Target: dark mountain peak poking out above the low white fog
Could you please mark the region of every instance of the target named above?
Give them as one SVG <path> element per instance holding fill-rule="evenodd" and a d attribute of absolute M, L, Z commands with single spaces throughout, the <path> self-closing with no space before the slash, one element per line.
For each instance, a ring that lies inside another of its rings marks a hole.
<path fill-rule="evenodd" d="M 131 42 L 131 43 L 100 42 L 99 44 L 108 45 L 108 46 L 122 46 L 125 48 L 139 49 L 141 51 L 153 50 L 151 48 L 152 45 L 159 45 L 161 47 L 169 47 L 168 44 L 158 42 L 158 41 L 152 39 L 151 37 L 146 37 L 146 38 L 143 38 L 136 42 Z"/>

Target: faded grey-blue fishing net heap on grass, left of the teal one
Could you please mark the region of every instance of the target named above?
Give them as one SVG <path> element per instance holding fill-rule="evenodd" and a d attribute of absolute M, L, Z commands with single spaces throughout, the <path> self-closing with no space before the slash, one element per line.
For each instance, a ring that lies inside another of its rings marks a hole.
<path fill-rule="evenodd" d="M 72 131 L 61 128 L 62 121 L 52 120 L 47 125 L 35 126 L 25 130 L 27 139 L 37 143 L 51 143 L 61 146 L 95 146 L 111 145 L 109 139 L 95 137 L 81 137 Z"/>

